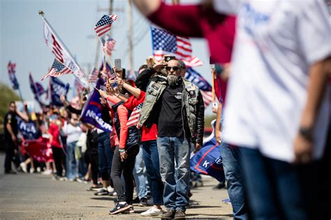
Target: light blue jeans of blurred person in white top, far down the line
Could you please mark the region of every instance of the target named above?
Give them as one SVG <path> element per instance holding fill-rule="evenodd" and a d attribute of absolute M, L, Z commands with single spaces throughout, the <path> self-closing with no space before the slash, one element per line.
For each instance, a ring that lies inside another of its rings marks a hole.
<path fill-rule="evenodd" d="M 77 161 L 75 159 L 75 142 L 67 143 L 66 145 L 66 177 L 67 179 L 75 179 L 77 176 Z"/>

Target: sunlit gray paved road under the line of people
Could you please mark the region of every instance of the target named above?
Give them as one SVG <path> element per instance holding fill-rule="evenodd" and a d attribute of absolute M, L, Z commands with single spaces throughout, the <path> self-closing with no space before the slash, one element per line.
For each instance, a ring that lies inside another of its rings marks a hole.
<path fill-rule="evenodd" d="M 3 174 L 4 155 L 0 154 L 0 219 L 149 219 L 140 217 L 148 207 L 135 206 L 136 214 L 110 215 L 114 196 L 94 196 L 89 184 L 60 182 L 40 174 Z M 203 187 L 192 190 L 192 207 L 187 219 L 231 219 L 225 189 L 213 190 L 215 179 L 203 177 Z M 158 219 L 158 218 L 154 218 Z"/>

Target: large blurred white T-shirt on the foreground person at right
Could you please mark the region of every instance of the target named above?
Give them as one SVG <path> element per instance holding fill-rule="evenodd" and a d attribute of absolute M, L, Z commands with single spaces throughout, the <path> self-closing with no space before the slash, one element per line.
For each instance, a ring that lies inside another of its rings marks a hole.
<path fill-rule="evenodd" d="M 214 0 L 214 8 L 237 14 L 224 140 L 259 149 L 272 159 L 293 161 L 293 141 L 307 100 L 309 66 L 331 54 L 325 3 Z M 315 159 L 323 154 L 329 108 L 326 91 L 314 132 Z"/>

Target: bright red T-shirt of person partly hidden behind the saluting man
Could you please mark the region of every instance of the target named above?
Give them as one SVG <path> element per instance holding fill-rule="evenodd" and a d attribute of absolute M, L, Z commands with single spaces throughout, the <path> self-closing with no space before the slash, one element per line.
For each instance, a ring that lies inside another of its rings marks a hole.
<path fill-rule="evenodd" d="M 124 106 L 129 110 L 133 110 L 137 105 L 145 101 L 145 91 L 140 91 L 140 96 L 135 98 L 131 96 L 124 103 Z M 142 126 L 141 141 L 156 140 L 157 138 L 157 127 L 156 124 L 152 124 L 150 129 L 147 129 L 146 126 Z"/>

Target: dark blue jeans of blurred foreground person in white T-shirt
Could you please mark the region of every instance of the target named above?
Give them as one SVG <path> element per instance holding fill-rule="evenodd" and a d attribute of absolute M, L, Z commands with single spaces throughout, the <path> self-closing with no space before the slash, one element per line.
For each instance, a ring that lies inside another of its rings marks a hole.
<path fill-rule="evenodd" d="M 323 219 L 318 217 L 324 212 L 316 198 L 318 189 L 311 188 L 311 179 L 318 181 L 316 163 L 295 166 L 267 158 L 257 149 L 241 147 L 241 152 L 253 219 Z"/>

